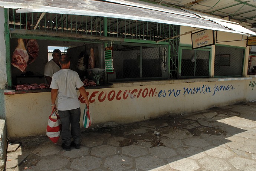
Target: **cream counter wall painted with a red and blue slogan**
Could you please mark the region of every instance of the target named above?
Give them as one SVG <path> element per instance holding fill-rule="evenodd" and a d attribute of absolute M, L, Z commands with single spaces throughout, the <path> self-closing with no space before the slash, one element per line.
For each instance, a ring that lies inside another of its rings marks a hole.
<path fill-rule="evenodd" d="M 107 122 L 128 124 L 157 118 L 161 115 L 200 111 L 213 106 L 256 99 L 256 88 L 252 89 L 253 87 L 249 86 L 250 81 L 256 82 L 256 78 L 233 81 L 216 80 L 218 79 L 119 83 L 113 85 L 115 88 L 89 89 L 87 91 L 93 118 L 91 128 L 97 125 L 102 126 Z M 214 91 L 217 86 L 226 86 L 226 88 Z M 191 89 L 192 93 L 185 92 L 187 88 Z M 196 93 L 194 88 L 200 88 L 201 91 Z M 140 89 L 142 89 L 141 92 Z M 151 89 L 154 93 L 149 96 L 147 90 L 149 92 Z M 124 93 L 126 90 L 130 92 L 129 96 Z M 176 97 L 173 93 L 169 96 L 169 91 L 173 90 L 175 93 L 180 93 L 175 94 Z M 102 96 L 99 96 L 101 93 Z M 111 100 L 114 93 L 115 96 Z M 103 99 L 105 95 L 105 100 L 100 102 L 99 97 Z M 144 95 L 146 96 L 143 97 Z M 124 98 L 126 96 L 128 96 L 127 99 Z M 51 113 L 50 92 L 5 95 L 5 101 L 7 132 L 10 137 L 46 134 L 48 116 Z M 81 99 L 82 114 L 84 108 L 85 103 Z M 81 115 L 81 124 L 82 117 Z"/>

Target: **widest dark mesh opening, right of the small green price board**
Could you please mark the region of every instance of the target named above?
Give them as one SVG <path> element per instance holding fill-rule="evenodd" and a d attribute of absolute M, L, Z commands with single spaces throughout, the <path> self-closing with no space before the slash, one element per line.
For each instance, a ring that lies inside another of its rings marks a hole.
<path fill-rule="evenodd" d="M 116 79 L 159 78 L 167 72 L 167 47 L 113 45 Z"/>

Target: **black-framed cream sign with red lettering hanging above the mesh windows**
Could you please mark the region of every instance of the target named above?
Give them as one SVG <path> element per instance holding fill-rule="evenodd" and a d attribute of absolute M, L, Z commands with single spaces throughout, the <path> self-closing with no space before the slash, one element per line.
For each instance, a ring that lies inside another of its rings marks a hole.
<path fill-rule="evenodd" d="M 201 30 L 199 32 L 191 33 L 192 49 L 214 45 L 214 31 Z"/>

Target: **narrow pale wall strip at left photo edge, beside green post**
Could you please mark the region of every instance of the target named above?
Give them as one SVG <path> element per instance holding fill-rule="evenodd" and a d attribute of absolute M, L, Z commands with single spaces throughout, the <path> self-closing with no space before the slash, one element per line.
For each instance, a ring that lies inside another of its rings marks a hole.
<path fill-rule="evenodd" d="M 4 16 L 4 8 L 0 7 L 0 16 Z M 4 89 L 7 83 L 6 73 L 6 45 L 4 37 L 4 17 L 0 17 L 0 89 Z"/>

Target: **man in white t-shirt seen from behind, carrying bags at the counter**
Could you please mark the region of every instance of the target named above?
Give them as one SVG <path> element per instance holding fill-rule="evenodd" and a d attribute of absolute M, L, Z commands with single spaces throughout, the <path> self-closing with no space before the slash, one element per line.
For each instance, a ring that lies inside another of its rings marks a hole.
<path fill-rule="evenodd" d="M 81 111 L 76 88 L 85 99 L 86 105 L 89 106 L 90 103 L 78 73 L 69 69 L 70 57 L 68 55 L 61 55 L 59 63 L 61 70 L 53 74 L 52 83 L 50 85 L 52 89 L 52 110 L 58 109 L 59 111 L 60 122 L 62 124 L 61 147 L 66 151 L 70 151 L 70 147 L 79 149 L 81 140 Z M 57 96 L 58 107 L 55 105 Z M 73 138 L 73 141 L 71 138 Z"/>

